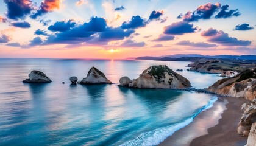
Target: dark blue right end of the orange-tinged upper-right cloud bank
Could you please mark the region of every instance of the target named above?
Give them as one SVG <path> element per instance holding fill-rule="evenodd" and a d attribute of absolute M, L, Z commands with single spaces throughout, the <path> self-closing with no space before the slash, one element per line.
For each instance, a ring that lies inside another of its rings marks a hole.
<path fill-rule="evenodd" d="M 229 5 L 223 5 L 221 7 L 221 12 L 219 12 L 215 18 L 230 18 L 232 16 L 239 16 L 241 15 L 240 12 L 238 12 L 238 9 L 236 10 L 229 10 Z"/>

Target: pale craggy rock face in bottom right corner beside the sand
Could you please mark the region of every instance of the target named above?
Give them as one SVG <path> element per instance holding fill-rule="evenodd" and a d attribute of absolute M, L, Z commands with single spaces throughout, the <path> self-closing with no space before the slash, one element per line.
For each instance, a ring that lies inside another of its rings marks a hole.
<path fill-rule="evenodd" d="M 256 145 L 256 99 L 242 105 L 243 116 L 238 124 L 237 133 L 248 136 L 247 146 Z"/>

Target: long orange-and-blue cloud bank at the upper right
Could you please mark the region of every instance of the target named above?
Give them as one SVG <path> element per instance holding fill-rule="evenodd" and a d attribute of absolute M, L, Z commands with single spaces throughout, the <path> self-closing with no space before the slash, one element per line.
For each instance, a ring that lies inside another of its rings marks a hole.
<path fill-rule="evenodd" d="M 217 2 L 216 4 L 207 3 L 204 5 L 199 5 L 193 12 L 188 11 L 187 13 L 177 16 L 178 19 L 183 19 L 183 21 L 194 22 L 199 21 L 199 19 L 211 19 L 211 18 L 230 18 L 232 16 L 239 16 L 240 12 L 236 10 L 228 10 L 229 5 L 223 5 Z M 216 14 L 217 13 L 217 14 Z"/>

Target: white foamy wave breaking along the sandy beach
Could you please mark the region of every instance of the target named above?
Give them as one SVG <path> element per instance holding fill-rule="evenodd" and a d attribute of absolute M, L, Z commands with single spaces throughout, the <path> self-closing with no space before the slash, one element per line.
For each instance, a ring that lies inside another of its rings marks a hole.
<path fill-rule="evenodd" d="M 142 133 L 140 136 L 138 136 L 136 139 L 133 139 L 132 141 L 128 141 L 122 146 L 129 146 L 129 145 L 157 145 L 160 144 L 160 142 L 163 142 L 167 137 L 171 136 L 174 132 L 177 130 L 180 130 L 181 128 L 187 126 L 191 122 L 193 122 L 194 117 L 196 117 L 199 113 L 202 111 L 205 111 L 209 108 L 212 108 L 213 103 L 218 100 L 218 97 L 212 97 L 211 100 L 207 103 L 207 105 L 203 106 L 196 114 L 194 114 L 191 117 L 188 117 L 187 119 L 183 120 L 179 123 L 174 123 L 172 125 L 169 125 L 167 127 L 157 128 L 155 130 Z"/>

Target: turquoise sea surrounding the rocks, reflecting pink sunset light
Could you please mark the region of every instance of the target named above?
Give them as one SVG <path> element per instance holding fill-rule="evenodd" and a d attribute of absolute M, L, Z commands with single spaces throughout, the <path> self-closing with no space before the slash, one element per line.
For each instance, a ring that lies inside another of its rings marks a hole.
<path fill-rule="evenodd" d="M 120 88 L 120 77 L 137 78 L 151 65 L 187 69 L 189 62 L 151 60 L 0 60 L 0 145 L 156 145 L 210 108 L 210 94 L 170 89 Z M 91 66 L 113 85 L 70 85 Z M 27 84 L 30 71 L 53 81 Z M 195 88 L 207 88 L 216 74 L 179 72 Z M 62 84 L 65 82 L 65 84 Z"/>

